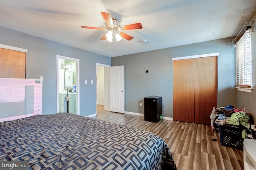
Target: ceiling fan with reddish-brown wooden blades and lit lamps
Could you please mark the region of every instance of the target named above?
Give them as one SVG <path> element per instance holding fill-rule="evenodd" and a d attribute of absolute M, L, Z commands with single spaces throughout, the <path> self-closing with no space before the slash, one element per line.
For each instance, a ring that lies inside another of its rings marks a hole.
<path fill-rule="evenodd" d="M 130 30 L 130 29 L 141 29 L 142 25 L 141 23 L 133 23 L 130 25 L 124 25 L 120 26 L 117 18 L 112 17 L 111 14 L 106 12 L 100 12 L 106 21 L 106 28 L 100 28 L 100 27 L 88 27 L 88 26 L 81 26 L 82 28 L 89 28 L 89 29 L 102 29 L 107 30 L 108 33 L 106 35 L 103 35 L 100 39 L 101 40 L 107 40 L 110 42 L 113 42 L 113 35 L 115 37 L 116 41 L 120 41 L 122 38 L 127 39 L 130 41 L 133 39 L 132 36 L 122 32 L 123 30 Z"/>

